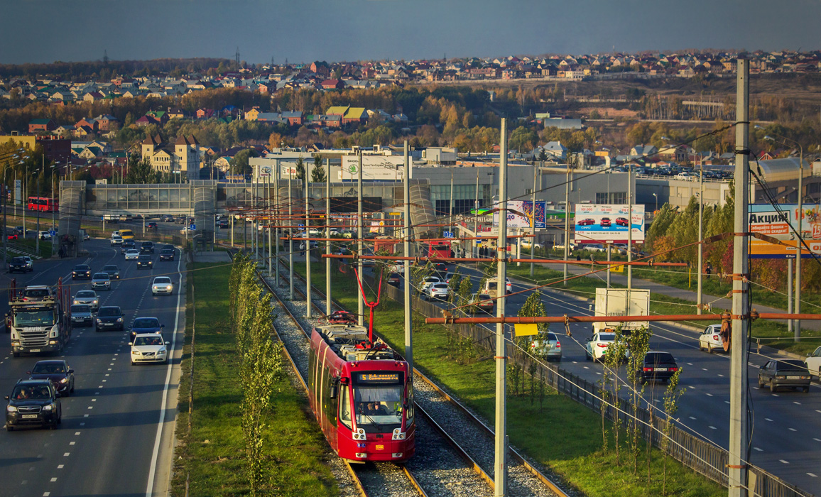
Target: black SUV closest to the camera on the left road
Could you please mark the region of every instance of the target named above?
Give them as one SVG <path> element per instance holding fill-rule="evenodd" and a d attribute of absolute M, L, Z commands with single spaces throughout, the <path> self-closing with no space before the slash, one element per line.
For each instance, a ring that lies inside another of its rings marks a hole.
<path fill-rule="evenodd" d="M 6 395 L 6 431 L 20 426 L 48 426 L 52 430 L 62 422 L 60 394 L 51 380 L 21 380 Z"/>

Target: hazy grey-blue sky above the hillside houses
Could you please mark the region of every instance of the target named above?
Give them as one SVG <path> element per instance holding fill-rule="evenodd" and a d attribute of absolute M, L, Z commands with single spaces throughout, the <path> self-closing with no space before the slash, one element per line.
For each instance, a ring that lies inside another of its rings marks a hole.
<path fill-rule="evenodd" d="M 821 0 L 0 0 L 0 63 L 821 48 Z"/>

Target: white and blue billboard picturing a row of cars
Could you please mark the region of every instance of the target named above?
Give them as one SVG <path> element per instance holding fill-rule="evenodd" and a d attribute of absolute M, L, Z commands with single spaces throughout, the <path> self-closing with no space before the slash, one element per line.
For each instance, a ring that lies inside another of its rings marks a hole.
<path fill-rule="evenodd" d="M 632 220 L 627 220 L 626 204 L 577 203 L 577 244 L 627 243 L 627 227 L 631 226 L 634 242 L 644 241 L 644 206 L 634 205 Z"/>

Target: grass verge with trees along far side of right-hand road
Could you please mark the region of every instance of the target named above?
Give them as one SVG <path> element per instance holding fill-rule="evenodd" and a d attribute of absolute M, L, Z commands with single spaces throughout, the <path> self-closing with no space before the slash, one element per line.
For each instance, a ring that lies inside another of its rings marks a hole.
<path fill-rule="evenodd" d="M 547 267 L 534 267 L 534 276 L 532 279 L 530 278 L 530 265 L 528 264 L 522 264 L 520 267 L 516 267 L 516 265 L 511 264 L 508 266 L 507 271 L 511 276 L 517 276 L 522 280 L 532 281 L 535 285 L 545 285 L 550 281 L 562 280 L 562 271 L 555 271 L 553 269 L 548 269 Z M 603 271 L 600 274 L 602 278 L 605 277 Z M 635 278 L 646 277 L 648 280 L 650 279 L 649 276 L 653 276 L 656 282 L 663 285 L 687 289 L 688 276 L 686 271 L 681 271 L 680 274 L 672 274 L 658 273 L 646 269 L 634 269 L 633 276 Z M 661 279 L 659 279 L 660 277 Z M 584 297 L 585 299 L 594 299 L 596 289 L 602 288 L 603 286 L 603 280 L 599 280 L 598 277 L 592 276 L 569 280 L 566 287 L 561 283 L 558 283 L 556 285 L 551 285 L 551 288 L 567 291 L 568 293 L 576 294 L 580 297 Z M 624 285 L 617 285 L 615 283 L 611 284 L 611 286 L 612 288 L 625 288 Z M 695 276 L 693 279 L 693 286 L 695 288 Z M 718 277 L 713 276 L 709 280 L 704 280 L 704 293 L 725 295 L 729 290 L 732 290 L 731 286 L 719 281 Z M 754 302 L 753 308 L 755 308 L 756 303 L 771 307 L 779 307 L 777 305 L 779 303 L 777 298 L 782 297 L 780 294 L 772 294 L 771 292 L 767 292 L 756 287 L 753 287 L 752 295 Z M 813 296 L 813 298 L 814 297 L 815 296 Z M 786 308 L 786 298 L 784 299 L 784 308 Z M 713 310 L 709 313 L 720 314 L 722 310 L 729 309 L 713 308 Z M 654 314 L 695 314 L 695 302 L 684 299 L 675 299 L 668 297 L 667 295 L 651 292 L 650 312 Z M 712 323 L 711 321 L 686 321 L 686 324 L 696 327 L 704 327 L 707 324 Z M 817 336 L 819 333 L 813 330 L 802 330 L 801 335 Z M 783 349 L 788 352 L 800 353 L 804 355 L 812 353 L 819 345 L 821 345 L 821 339 L 814 338 L 805 338 L 799 343 L 796 343 L 793 340 L 793 334 L 788 331 L 787 323 L 785 321 L 768 321 L 764 319 L 754 321 L 750 330 L 750 337 L 754 343 L 754 346 L 760 341 L 760 344 L 762 345 L 769 345 L 776 349 Z M 695 335 L 693 338 L 695 340 Z"/>

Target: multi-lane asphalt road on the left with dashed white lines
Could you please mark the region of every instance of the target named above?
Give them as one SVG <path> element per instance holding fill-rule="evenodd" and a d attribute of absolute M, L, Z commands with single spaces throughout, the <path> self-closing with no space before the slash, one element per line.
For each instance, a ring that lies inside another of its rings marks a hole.
<path fill-rule="evenodd" d="M 158 262 L 155 254 L 154 269 L 138 271 L 135 262 L 125 262 L 107 240 L 90 240 L 86 248 L 91 253 L 87 260 L 35 262 L 33 273 L 15 275 L 17 284 L 54 284 L 62 276 L 73 295 L 89 288 L 85 280 L 72 284 L 75 264 L 88 262 L 92 271 L 117 264 L 121 280 L 110 292 L 98 293 L 101 305 L 122 308 L 126 331 L 74 329 L 62 357 L 75 370 L 76 390 L 61 399 L 62 425 L 55 431 L 0 431 L 2 495 L 165 495 L 167 490 L 185 295 L 175 289 L 172 296 L 153 297 L 150 283 L 153 276 L 167 275 L 178 284 L 179 258 Z M 0 310 L 7 310 L 6 299 Z M 168 365 L 131 366 L 127 324 L 137 316 L 158 317 L 165 324 L 164 338 L 172 342 Z M 0 391 L 5 395 L 45 357 L 12 358 L 8 335 L 0 335 L 0 340 Z"/>

